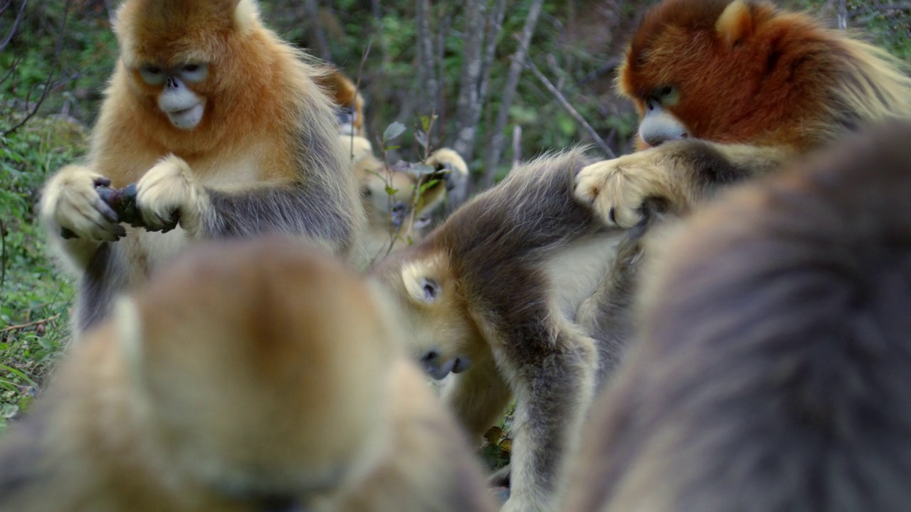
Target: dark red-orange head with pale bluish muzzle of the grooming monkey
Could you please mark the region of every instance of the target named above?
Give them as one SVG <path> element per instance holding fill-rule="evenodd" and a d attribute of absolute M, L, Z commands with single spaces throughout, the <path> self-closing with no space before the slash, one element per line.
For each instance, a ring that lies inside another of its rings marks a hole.
<path fill-rule="evenodd" d="M 800 96 L 772 17 L 771 5 L 742 0 L 653 8 L 618 77 L 640 113 L 640 148 L 681 137 L 747 142 L 792 119 Z"/>

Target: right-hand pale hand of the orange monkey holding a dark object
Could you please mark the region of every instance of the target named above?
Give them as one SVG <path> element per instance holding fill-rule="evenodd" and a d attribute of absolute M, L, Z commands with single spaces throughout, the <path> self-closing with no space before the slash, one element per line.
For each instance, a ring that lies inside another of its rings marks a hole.
<path fill-rule="evenodd" d="M 168 232 L 179 223 L 191 238 L 198 238 L 209 209 L 209 194 L 187 162 L 169 155 L 139 179 L 136 209 L 147 230 Z"/>

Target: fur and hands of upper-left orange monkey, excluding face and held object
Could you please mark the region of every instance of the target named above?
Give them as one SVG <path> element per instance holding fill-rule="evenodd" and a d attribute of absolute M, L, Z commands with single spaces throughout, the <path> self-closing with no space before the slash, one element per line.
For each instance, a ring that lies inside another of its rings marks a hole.
<path fill-rule="evenodd" d="M 332 103 L 312 79 L 324 70 L 263 27 L 252 0 L 128 0 L 115 29 L 121 55 L 86 165 L 49 179 L 41 204 L 52 248 L 80 277 L 77 330 L 198 239 L 278 231 L 359 255 L 363 208 Z M 207 99 L 193 129 L 171 124 L 158 108 L 161 87 L 138 72 L 181 63 L 208 65 L 188 83 Z M 143 219 L 177 210 L 180 228 L 127 227 L 116 241 L 123 228 L 102 214 L 92 183 L 100 178 L 138 182 Z M 79 238 L 61 239 L 61 227 Z"/>

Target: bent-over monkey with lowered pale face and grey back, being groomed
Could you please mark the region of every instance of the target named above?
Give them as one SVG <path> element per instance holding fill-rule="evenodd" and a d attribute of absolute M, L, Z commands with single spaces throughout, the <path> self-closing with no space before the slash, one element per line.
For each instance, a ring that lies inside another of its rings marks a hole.
<path fill-rule="evenodd" d="M 472 438 L 516 399 L 506 511 L 550 510 L 617 347 L 577 324 L 619 233 L 573 200 L 579 149 L 518 165 L 374 268 L 404 308 L 412 352 Z"/>

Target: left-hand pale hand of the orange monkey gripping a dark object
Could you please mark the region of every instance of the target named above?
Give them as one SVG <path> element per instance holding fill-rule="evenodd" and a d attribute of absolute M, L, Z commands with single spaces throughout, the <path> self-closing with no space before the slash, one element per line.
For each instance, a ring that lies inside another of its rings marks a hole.
<path fill-rule="evenodd" d="M 41 199 L 41 217 L 65 238 L 117 241 L 127 235 L 117 212 L 98 193 L 110 179 L 82 166 L 67 166 L 51 178 Z"/>

